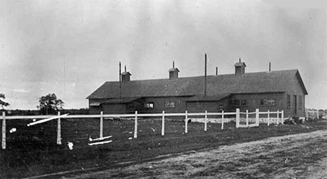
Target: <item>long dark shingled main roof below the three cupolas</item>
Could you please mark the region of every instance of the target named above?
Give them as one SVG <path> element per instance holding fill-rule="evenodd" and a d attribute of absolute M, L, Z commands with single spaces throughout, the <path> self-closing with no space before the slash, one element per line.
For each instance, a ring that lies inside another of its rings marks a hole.
<path fill-rule="evenodd" d="M 298 70 L 284 70 L 242 75 L 207 76 L 207 95 L 285 92 L 289 83 L 298 78 L 305 94 L 307 90 Z M 122 83 L 122 98 L 153 96 L 195 96 L 204 93 L 205 76 L 186 78 L 133 80 Z M 119 81 L 106 82 L 87 99 L 119 98 Z"/>

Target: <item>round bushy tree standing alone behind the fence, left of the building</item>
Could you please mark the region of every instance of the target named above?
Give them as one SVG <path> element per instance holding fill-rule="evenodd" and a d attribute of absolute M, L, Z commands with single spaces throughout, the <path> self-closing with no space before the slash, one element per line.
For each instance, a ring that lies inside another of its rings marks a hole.
<path fill-rule="evenodd" d="M 64 107 L 64 101 L 57 99 L 57 96 L 54 93 L 48 94 L 46 96 L 41 96 L 41 98 L 38 100 L 38 103 L 40 103 L 38 108 L 40 108 L 40 112 L 43 115 L 55 115 L 58 110 Z"/>

